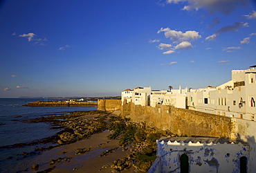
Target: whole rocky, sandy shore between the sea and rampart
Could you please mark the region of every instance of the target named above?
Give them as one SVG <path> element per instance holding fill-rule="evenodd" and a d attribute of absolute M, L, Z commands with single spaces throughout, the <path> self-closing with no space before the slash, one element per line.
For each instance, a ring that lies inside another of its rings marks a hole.
<path fill-rule="evenodd" d="M 63 130 L 39 141 L 51 139 L 51 147 L 24 153 L 33 159 L 19 172 L 147 172 L 156 158 L 156 139 L 174 134 L 119 114 L 80 111 L 26 120 L 51 122 Z"/>

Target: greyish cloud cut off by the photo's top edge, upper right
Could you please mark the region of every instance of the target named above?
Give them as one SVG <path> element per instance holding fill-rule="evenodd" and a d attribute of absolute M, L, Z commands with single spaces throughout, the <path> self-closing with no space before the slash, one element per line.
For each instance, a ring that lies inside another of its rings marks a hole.
<path fill-rule="evenodd" d="M 246 6 L 246 0 L 167 0 L 167 3 L 188 2 L 188 6 L 184 6 L 182 10 L 199 10 L 205 9 L 210 13 L 221 12 L 229 15 L 235 8 Z"/>

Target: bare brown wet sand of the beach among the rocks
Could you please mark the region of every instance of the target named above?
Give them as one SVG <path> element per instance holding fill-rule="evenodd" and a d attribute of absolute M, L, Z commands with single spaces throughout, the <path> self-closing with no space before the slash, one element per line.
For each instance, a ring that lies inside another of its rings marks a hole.
<path fill-rule="evenodd" d="M 111 113 L 109 116 L 117 116 L 118 113 L 120 112 Z M 99 114 L 93 114 L 79 118 L 80 120 L 81 118 L 93 119 L 98 116 Z M 26 163 L 21 162 L 21 167 L 25 167 L 23 171 L 19 172 L 120 172 L 110 165 L 113 161 L 132 154 L 136 145 L 118 147 L 120 136 L 109 140 L 107 138 L 109 134 L 113 134 L 113 131 L 106 130 L 99 134 L 93 134 L 90 138 L 46 150 L 33 159 L 27 159 Z M 78 151 L 80 152 L 78 153 Z M 107 151 L 111 152 L 102 156 L 103 152 Z M 33 165 L 38 165 L 38 167 L 33 169 Z M 130 167 L 129 170 L 122 170 L 122 172 L 140 171 L 135 167 Z"/>

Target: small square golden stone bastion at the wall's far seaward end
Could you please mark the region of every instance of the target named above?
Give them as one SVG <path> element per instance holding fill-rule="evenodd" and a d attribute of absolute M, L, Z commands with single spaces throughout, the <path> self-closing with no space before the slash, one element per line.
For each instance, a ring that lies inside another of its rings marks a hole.
<path fill-rule="evenodd" d="M 121 100 L 98 100 L 98 110 L 100 111 L 116 111 L 122 106 Z"/>

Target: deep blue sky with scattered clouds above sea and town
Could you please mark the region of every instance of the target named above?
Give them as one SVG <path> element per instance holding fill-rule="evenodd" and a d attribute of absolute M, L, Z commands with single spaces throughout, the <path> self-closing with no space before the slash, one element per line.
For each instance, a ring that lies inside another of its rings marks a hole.
<path fill-rule="evenodd" d="M 253 0 L 0 3 L 0 98 L 203 88 L 256 64 Z"/>

